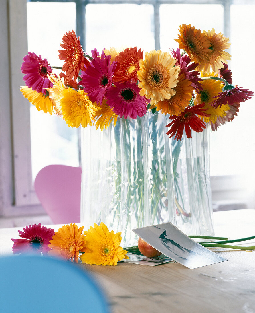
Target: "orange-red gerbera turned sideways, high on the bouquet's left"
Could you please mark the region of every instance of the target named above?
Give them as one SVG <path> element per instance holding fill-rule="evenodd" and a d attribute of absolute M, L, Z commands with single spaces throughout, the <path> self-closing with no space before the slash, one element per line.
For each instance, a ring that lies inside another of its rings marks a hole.
<path fill-rule="evenodd" d="M 64 49 L 58 50 L 60 53 L 58 55 L 59 59 L 64 61 L 62 71 L 66 72 L 66 79 L 69 81 L 72 80 L 73 76 L 76 81 L 80 69 L 83 69 L 84 65 L 88 63 L 83 55 L 84 52 L 79 38 L 76 37 L 74 30 L 69 31 L 62 38 L 63 44 L 60 44 Z"/>

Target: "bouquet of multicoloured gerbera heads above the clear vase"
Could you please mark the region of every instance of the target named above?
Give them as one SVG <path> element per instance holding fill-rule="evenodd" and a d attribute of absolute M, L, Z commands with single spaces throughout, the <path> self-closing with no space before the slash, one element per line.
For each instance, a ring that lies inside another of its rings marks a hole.
<path fill-rule="evenodd" d="M 184 129 L 190 138 L 190 129 L 201 132 L 209 122 L 215 131 L 235 118 L 240 102 L 253 92 L 232 85 L 231 55 L 225 51 L 229 38 L 214 28 L 201 32 L 185 24 L 179 32 L 179 48 L 169 52 L 110 48 L 101 55 L 94 49 L 90 56 L 69 31 L 59 50 L 62 68 L 34 52 L 24 57 L 21 91 L 38 110 L 61 115 L 71 127 L 95 124 L 103 131 L 118 117 L 136 119 L 161 110 L 171 120 L 167 135 L 177 140 Z"/>

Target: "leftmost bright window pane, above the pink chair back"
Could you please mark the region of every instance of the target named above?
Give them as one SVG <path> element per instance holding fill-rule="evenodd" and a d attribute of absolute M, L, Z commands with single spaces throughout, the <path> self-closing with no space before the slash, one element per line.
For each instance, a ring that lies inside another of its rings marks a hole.
<path fill-rule="evenodd" d="M 48 22 L 45 23 L 45 18 Z M 46 58 L 51 66 L 62 66 L 58 50 L 63 35 L 76 29 L 75 3 L 27 3 L 28 51 Z M 78 131 L 59 116 L 30 106 L 32 176 L 49 164 L 79 166 Z"/>

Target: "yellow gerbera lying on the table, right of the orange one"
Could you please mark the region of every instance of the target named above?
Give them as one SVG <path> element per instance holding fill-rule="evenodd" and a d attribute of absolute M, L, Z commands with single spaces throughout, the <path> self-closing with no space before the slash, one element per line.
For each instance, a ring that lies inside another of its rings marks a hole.
<path fill-rule="evenodd" d="M 109 232 L 104 223 L 99 226 L 95 223 L 84 232 L 86 247 L 90 252 L 80 256 L 82 263 L 97 265 L 117 265 L 122 259 L 128 259 L 127 251 L 120 247 L 121 237 L 119 233 Z M 83 250 L 81 250 L 83 252 Z"/>

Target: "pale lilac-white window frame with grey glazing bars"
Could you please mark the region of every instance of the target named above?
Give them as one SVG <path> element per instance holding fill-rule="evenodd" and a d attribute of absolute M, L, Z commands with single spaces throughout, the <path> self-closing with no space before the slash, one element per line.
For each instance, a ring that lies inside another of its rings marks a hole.
<path fill-rule="evenodd" d="M 60 0 L 59 2 L 69 1 Z M 253 4 L 254 0 L 72 0 L 72 2 L 76 2 L 77 33 L 83 46 L 85 46 L 86 4 L 147 3 L 153 5 L 155 49 L 160 49 L 160 4 L 222 4 L 224 35 L 229 37 L 231 4 Z M 2 0 L 0 10 L 0 25 L 3 30 L 0 33 L 2 73 L 0 75 L 0 215 L 2 216 L 44 213 L 32 183 L 29 105 L 19 91 L 20 85 L 23 84 L 20 66 L 28 51 L 26 5 L 27 0 Z M 217 188 L 215 191 L 213 189 L 213 192 L 217 192 Z M 20 210 L 21 208 L 23 210 Z"/>

